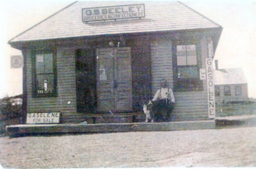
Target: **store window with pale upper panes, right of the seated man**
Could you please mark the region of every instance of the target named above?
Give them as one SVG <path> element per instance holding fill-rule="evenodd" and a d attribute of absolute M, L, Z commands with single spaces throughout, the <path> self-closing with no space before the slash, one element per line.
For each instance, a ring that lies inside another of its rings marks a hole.
<path fill-rule="evenodd" d="M 173 69 L 175 91 L 203 90 L 202 81 L 199 76 L 199 53 L 199 46 L 196 43 L 181 42 L 174 46 Z"/>

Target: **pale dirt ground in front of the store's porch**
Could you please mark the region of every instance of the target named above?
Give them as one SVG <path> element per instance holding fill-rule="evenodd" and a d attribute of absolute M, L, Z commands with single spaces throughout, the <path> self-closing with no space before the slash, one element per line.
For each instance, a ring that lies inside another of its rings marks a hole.
<path fill-rule="evenodd" d="M 255 167 L 256 127 L 0 137 L 5 168 Z"/>

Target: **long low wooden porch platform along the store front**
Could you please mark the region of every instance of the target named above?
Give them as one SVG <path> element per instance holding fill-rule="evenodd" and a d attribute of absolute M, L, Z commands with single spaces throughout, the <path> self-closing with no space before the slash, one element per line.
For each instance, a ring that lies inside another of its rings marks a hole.
<path fill-rule="evenodd" d="M 31 133 L 106 133 L 129 131 L 172 131 L 216 128 L 215 120 L 166 123 L 37 124 L 7 126 L 8 135 Z"/>

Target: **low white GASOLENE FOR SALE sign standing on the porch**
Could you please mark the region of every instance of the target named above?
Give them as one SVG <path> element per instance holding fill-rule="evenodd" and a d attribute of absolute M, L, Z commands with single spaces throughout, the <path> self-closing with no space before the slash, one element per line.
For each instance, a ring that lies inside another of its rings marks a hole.
<path fill-rule="evenodd" d="M 27 114 L 27 124 L 37 124 L 37 123 L 59 123 L 59 112 L 49 112 L 49 113 L 28 113 Z"/>

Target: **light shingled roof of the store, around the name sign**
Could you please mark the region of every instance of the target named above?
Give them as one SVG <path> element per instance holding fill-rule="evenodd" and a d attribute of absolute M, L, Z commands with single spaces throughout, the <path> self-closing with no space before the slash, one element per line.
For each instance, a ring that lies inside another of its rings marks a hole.
<path fill-rule="evenodd" d="M 82 22 L 82 8 L 145 4 L 145 17 Z M 76 1 L 9 41 L 23 42 L 135 32 L 220 28 L 221 26 L 178 1 Z"/>

